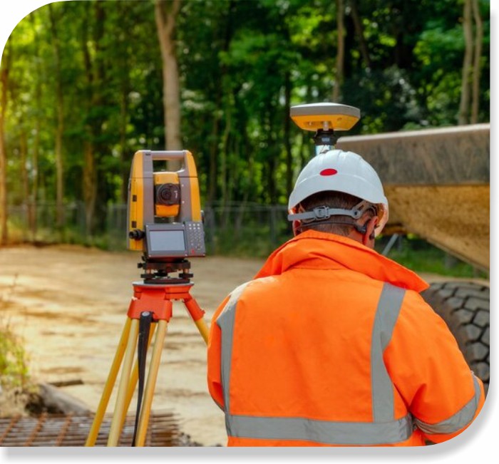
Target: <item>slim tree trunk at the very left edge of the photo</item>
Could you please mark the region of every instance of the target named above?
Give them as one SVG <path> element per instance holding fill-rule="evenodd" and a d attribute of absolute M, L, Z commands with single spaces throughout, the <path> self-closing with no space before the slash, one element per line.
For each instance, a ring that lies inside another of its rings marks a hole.
<path fill-rule="evenodd" d="M 7 107 L 7 91 L 9 90 L 10 71 L 10 41 L 7 41 L 0 67 L 0 245 L 7 244 L 9 232 L 7 229 L 7 153 L 5 146 L 5 113 Z"/>

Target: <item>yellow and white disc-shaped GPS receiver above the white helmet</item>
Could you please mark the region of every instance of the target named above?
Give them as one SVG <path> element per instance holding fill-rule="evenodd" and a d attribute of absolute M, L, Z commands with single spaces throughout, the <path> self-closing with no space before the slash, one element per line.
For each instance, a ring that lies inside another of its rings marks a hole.
<path fill-rule="evenodd" d="M 361 118 L 361 110 L 341 103 L 309 103 L 292 106 L 289 115 L 304 130 L 350 130 Z"/>

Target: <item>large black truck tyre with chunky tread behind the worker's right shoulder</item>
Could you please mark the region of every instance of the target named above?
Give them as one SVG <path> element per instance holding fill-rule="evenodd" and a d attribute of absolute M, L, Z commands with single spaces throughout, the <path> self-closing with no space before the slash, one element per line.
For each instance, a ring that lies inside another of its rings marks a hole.
<path fill-rule="evenodd" d="M 490 378 L 490 288 L 473 282 L 431 284 L 423 298 L 456 337 L 468 366 L 483 381 Z"/>

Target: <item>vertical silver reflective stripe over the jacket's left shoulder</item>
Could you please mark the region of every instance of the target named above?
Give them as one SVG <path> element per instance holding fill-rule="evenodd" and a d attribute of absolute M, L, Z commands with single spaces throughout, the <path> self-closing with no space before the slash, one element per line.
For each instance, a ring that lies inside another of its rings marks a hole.
<path fill-rule="evenodd" d="M 241 284 L 230 294 L 230 299 L 225 304 L 225 308 L 217 318 L 217 325 L 222 331 L 222 359 L 220 360 L 220 375 L 222 381 L 222 391 L 224 393 L 225 411 L 230 411 L 229 408 L 229 391 L 230 391 L 230 366 L 232 364 L 232 343 L 234 338 L 234 321 L 236 317 L 236 306 L 242 291 L 246 288 L 249 282 Z M 227 421 L 227 418 L 226 418 Z"/>

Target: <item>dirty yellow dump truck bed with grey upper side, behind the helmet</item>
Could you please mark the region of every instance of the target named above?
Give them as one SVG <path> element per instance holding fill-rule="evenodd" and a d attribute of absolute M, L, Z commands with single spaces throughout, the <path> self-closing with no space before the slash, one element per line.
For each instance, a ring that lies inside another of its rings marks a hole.
<path fill-rule="evenodd" d="M 342 137 L 378 172 L 388 232 L 412 232 L 490 269 L 490 124 Z"/>

